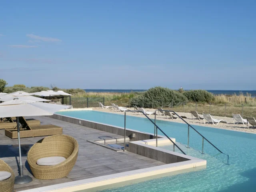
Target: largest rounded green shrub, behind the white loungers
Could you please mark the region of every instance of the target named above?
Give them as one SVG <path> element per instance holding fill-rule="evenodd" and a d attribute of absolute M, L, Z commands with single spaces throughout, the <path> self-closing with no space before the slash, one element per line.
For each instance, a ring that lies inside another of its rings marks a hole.
<path fill-rule="evenodd" d="M 187 98 L 178 91 L 169 88 L 154 87 L 140 94 L 136 94 L 130 103 L 138 107 L 152 108 L 153 105 L 153 108 L 156 108 L 162 105 L 170 106 L 172 102 L 175 106 L 183 101 L 186 102 Z"/>

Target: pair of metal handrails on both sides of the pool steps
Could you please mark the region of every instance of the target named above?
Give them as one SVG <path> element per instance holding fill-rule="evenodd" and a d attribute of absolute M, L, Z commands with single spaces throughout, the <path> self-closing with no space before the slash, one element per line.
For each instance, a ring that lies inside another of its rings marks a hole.
<path fill-rule="evenodd" d="M 156 109 L 155 110 L 155 121 L 154 122 L 143 111 L 126 110 L 124 112 L 124 151 L 126 150 L 126 145 L 125 145 L 125 137 L 126 137 L 126 112 L 139 112 L 139 113 L 144 114 L 144 116 L 146 116 L 146 118 L 148 118 L 148 120 L 150 120 L 150 122 L 152 122 L 152 124 L 154 124 L 154 136 L 156 136 L 156 146 L 158 146 L 158 130 L 160 130 L 164 134 L 164 136 L 166 136 L 172 142 L 172 144 L 173 144 L 173 151 L 174 152 L 175 152 L 175 147 L 177 147 L 184 155 L 186 155 L 186 153 L 181 148 L 179 148 L 179 146 L 176 145 L 175 142 L 162 131 L 162 129 L 160 129 L 158 127 L 158 125 L 156 124 L 156 111 L 172 112 L 172 113 L 176 114 L 182 121 L 184 121 L 188 125 L 188 145 L 187 145 L 187 148 L 189 148 L 189 128 L 192 128 L 194 131 L 196 131 L 202 137 L 202 154 L 204 154 L 204 140 L 206 140 L 210 145 L 212 145 L 214 148 L 216 148 L 216 150 L 218 150 L 220 153 L 222 153 L 222 154 L 227 156 L 227 158 L 228 158 L 227 162 L 229 164 L 229 155 L 228 154 L 226 154 L 226 153 L 222 152 L 220 149 L 218 149 L 214 144 L 212 144 L 208 139 L 206 139 L 202 134 L 200 134 L 194 127 L 192 127 L 188 122 L 186 122 L 181 116 L 179 116 L 176 112 L 171 111 L 171 110 L 159 110 L 159 109 Z"/>

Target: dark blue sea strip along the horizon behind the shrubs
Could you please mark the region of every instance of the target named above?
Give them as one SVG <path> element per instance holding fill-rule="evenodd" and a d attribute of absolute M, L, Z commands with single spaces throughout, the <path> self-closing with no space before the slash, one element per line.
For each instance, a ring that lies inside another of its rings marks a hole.
<path fill-rule="evenodd" d="M 144 89 L 84 89 L 86 92 L 114 92 L 114 93 L 130 93 L 130 92 L 142 92 L 146 91 Z M 226 95 L 233 95 L 233 94 L 243 94 L 249 93 L 252 96 L 256 96 L 256 90 L 207 90 L 212 94 L 226 94 Z"/>

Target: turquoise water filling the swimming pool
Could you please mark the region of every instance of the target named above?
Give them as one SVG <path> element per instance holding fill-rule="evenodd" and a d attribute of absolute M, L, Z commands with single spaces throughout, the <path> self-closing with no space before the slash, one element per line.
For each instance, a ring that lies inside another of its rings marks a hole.
<path fill-rule="evenodd" d="M 124 116 L 97 111 L 70 111 L 58 114 L 124 127 Z M 152 116 L 153 118 L 153 116 Z M 204 142 L 190 129 L 190 149 L 187 144 L 188 127 L 185 124 L 157 120 L 156 124 L 170 137 L 176 138 L 182 150 L 188 155 L 207 160 L 207 168 L 196 172 L 165 176 L 128 186 L 103 190 L 104 192 L 158 192 L 158 191 L 256 191 L 256 134 L 235 132 L 204 126 L 194 126 L 226 156 Z M 153 124 L 146 118 L 127 116 L 126 127 L 154 133 Z M 170 148 L 170 146 L 162 146 Z"/>

